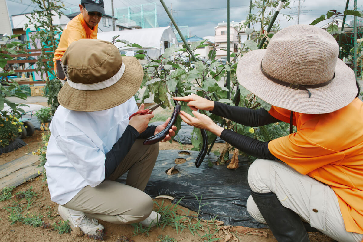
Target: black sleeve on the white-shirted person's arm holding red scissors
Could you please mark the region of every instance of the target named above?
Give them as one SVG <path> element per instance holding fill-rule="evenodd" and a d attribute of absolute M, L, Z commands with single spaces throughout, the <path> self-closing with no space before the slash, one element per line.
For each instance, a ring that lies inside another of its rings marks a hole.
<path fill-rule="evenodd" d="M 105 159 L 105 179 L 109 177 L 129 153 L 132 145 L 139 136 L 139 132 L 134 127 L 128 125 L 121 138 L 113 145 L 112 149 L 106 153 Z"/>

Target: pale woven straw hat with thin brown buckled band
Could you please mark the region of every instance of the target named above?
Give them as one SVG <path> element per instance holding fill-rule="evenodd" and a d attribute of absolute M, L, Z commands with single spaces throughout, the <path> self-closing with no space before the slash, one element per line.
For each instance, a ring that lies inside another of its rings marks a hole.
<path fill-rule="evenodd" d="M 237 80 L 276 107 L 324 114 L 347 106 L 358 93 L 353 70 L 338 58 L 333 36 L 312 25 L 277 32 L 267 49 L 244 54 Z"/>

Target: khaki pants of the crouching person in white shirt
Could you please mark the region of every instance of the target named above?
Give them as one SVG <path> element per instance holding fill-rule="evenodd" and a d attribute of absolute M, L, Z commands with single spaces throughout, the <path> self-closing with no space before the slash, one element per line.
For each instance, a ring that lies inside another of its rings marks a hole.
<path fill-rule="evenodd" d="M 129 224 L 146 219 L 153 201 L 143 190 L 158 157 L 159 143 L 143 145 L 143 141 L 135 141 L 109 180 L 95 187 L 85 186 L 63 206 L 110 223 Z M 126 184 L 115 181 L 127 171 Z"/>

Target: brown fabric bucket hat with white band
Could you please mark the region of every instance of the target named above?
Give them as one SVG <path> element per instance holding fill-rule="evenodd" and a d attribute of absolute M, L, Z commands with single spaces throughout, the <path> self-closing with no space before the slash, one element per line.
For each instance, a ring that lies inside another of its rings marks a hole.
<path fill-rule="evenodd" d="M 129 100 L 140 88 L 144 72 L 135 57 L 121 56 L 108 41 L 72 42 L 62 57 L 67 81 L 59 103 L 74 111 L 100 111 Z"/>

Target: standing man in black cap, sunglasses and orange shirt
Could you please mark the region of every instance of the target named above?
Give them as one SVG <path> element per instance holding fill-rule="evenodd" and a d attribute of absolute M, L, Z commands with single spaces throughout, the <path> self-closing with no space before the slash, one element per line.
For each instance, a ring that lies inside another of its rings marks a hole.
<path fill-rule="evenodd" d="M 69 21 L 63 30 L 58 48 L 54 52 L 54 70 L 56 61 L 62 59 L 70 43 L 80 39 L 97 39 L 98 23 L 105 15 L 103 0 L 81 0 L 79 10 L 81 13 Z"/>

